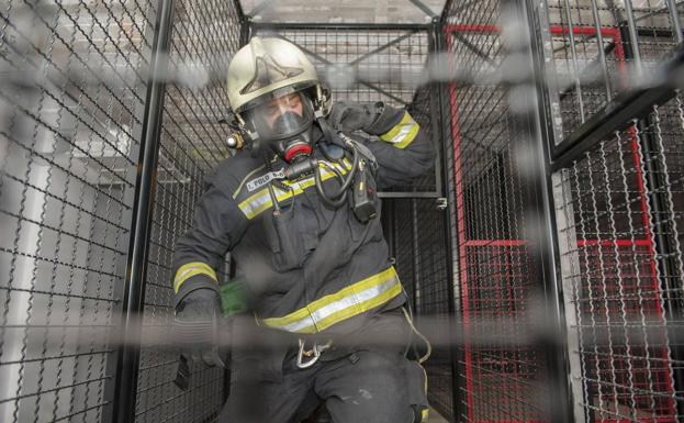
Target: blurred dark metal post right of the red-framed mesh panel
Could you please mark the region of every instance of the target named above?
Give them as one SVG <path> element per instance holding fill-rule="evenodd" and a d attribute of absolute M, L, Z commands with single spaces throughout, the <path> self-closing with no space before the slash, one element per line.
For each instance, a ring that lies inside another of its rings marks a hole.
<path fill-rule="evenodd" d="M 525 78 L 525 89 L 517 90 L 515 99 L 517 108 L 511 112 L 512 122 L 520 131 L 516 136 L 518 145 L 516 151 L 527 152 L 518 159 L 518 166 L 525 166 L 522 177 L 523 185 L 530 188 L 530 202 L 526 209 L 528 222 L 534 222 L 530 227 L 529 253 L 536 258 L 538 268 L 537 279 L 540 281 L 540 290 L 546 300 L 545 318 L 547 322 L 539 334 L 539 344 L 547 353 L 547 367 L 549 375 L 548 392 L 548 419 L 552 422 L 572 422 L 572 390 L 569 378 L 569 352 L 565 336 L 565 316 L 563 308 L 563 292 L 560 278 L 558 230 L 553 207 L 552 172 L 550 168 L 550 147 L 553 145 L 552 122 L 549 122 L 550 111 L 545 97 L 548 93 L 543 77 L 543 46 L 540 42 L 539 19 L 540 12 L 536 3 L 529 0 L 511 0 L 502 2 L 503 13 L 511 14 L 507 22 L 525 22 L 516 30 L 520 31 L 517 36 L 524 36 L 525 42 L 512 41 L 509 55 L 527 56 L 525 60 L 516 63 L 529 63 L 528 77 Z M 522 32 L 525 31 L 525 34 Z M 504 34 L 505 37 L 505 34 Z M 546 327 L 550 325 L 550 327 Z"/>

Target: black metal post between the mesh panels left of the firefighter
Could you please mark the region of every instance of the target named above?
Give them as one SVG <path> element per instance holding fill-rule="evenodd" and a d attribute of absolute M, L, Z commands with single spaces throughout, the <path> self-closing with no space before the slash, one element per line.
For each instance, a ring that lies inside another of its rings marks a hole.
<path fill-rule="evenodd" d="M 168 66 L 166 57 L 169 49 L 175 0 L 159 0 L 157 10 L 135 185 L 135 203 L 131 224 L 132 236 L 128 245 L 127 271 L 122 299 L 121 327 L 126 339 L 137 338 L 141 333 L 138 316 L 144 304 L 155 198 L 155 175 L 165 97 L 165 82 L 157 80 L 155 75 L 158 75 L 159 69 Z M 139 346 L 133 344 L 124 344 L 117 349 L 113 399 L 113 422 L 115 423 L 135 421 L 139 354 Z"/>

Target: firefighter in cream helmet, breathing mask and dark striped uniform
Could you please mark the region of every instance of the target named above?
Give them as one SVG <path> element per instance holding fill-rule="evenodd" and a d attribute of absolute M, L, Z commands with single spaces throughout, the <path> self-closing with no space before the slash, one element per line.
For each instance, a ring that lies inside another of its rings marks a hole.
<path fill-rule="evenodd" d="M 278 37 L 238 51 L 227 88 L 238 149 L 209 179 L 172 265 L 177 321 L 214 319 L 242 292 L 244 307 L 232 310 L 253 324 L 234 324 L 233 336 L 260 336 L 233 350 L 218 421 L 299 422 L 322 403 L 336 423 L 424 421 L 425 372 L 406 354 L 417 331 L 377 190 L 428 170 L 433 143 L 403 109 L 330 107 L 306 55 Z M 222 298 L 226 252 L 240 289 Z M 211 348 L 195 332 L 195 345 Z"/>

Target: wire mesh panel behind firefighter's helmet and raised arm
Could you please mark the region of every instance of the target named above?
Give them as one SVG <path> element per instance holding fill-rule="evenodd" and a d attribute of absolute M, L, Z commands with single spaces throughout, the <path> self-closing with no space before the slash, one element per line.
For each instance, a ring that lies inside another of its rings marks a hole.
<path fill-rule="evenodd" d="M 335 25 L 296 29 L 257 26 L 256 35 L 274 35 L 293 42 L 316 66 L 319 78 L 332 89 L 333 101 L 384 101 L 402 108 L 414 103 L 416 90 L 425 82 L 429 53 L 426 29 L 378 30 L 340 29 Z M 430 127 L 435 110 L 429 101 L 415 109 L 422 127 Z M 360 134 L 360 133 L 359 133 Z M 362 134 L 360 134 L 362 135 Z M 438 172 L 394 192 L 426 192 L 436 196 Z M 382 193 L 381 193 L 382 196 Z"/>

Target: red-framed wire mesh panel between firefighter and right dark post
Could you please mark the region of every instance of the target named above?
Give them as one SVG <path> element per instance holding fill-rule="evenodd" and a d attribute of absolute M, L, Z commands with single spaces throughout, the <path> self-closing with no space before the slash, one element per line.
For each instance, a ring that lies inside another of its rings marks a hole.
<path fill-rule="evenodd" d="M 504 84 L 518 69 L 502 32 L 517 23 L 506 22 L 503 8 L 498 1 L 452 2 L 446 11 L 450 66 L 453 75 L 468 76 L 449 85 L 446 111 L 464 331 L 456 410 L 460 421 L 538 422 L 549 420 L 553 388 L 535 337 L 542 323 L 539 259 L 527 226 L 535 199 L 517 147 L 529 134 L 512 119 L 519 91 Z"/>

